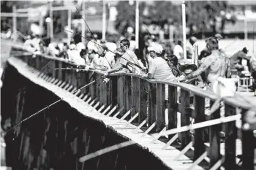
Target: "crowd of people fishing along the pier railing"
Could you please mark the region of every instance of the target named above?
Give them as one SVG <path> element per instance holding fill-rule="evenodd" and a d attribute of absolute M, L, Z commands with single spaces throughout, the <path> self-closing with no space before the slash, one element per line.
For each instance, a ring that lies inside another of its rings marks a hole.
<path fill-rule="evenodd" d="M 133 37 L 134 38 L 134 37 Z M 75 35 L 69 45 L 59 42 L 56 45 L 48 39 L 42 40 L 35 35 L 28 36 L 24 47 L 34 54 L 46 54 L 57 58 L 64 58 L 69 62 L 85 69 L 99 69 L 107 71 L 105 76 L 114 72 L 129 72 L 140 74 L 144 78 L 173 82 L 191 82 L 201 88 L 210 87 L 218 77 L 231 77 L 231 71 L 248 70 L 242 63 L 243 59 L 252 63 L 252 76 L 255 78 L 255 57 L 247 57 L 246 47 L 227 58 L 225 52 L 219 48 L 222 36 L 217 34 L 206 39 L 206 47 L 198 56 L 198 67 L 195 64 L 181 66 L 178 61 L 183 59 L 182 42 L 178 41 L 171 53 L 162 47 L 154 36 L 146 38 L 146 48 L 136 49 L 134 39 L 120 39 L 118 43 L 99 40 L 97 34 L 91 34 L 86 44 L 82 37 Z M 193 45 L 197 39 L 192 36 L 187 42 L 187 58 L 192 58 Z M 241 75 L 240 75 L 241 76 Z M 187 81 L 186 81 L 187 80 Z M 195 83 L 194 83 L 195 84 Z M 255 90 L 255 84 L 252 87 Z"/>

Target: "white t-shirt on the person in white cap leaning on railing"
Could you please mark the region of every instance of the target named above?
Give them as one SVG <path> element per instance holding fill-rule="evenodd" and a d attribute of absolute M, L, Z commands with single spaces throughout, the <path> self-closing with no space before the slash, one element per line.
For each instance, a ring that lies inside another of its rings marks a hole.
<path fill-rule="evenodd" d="M 173 81 L 175 79 L 170 66 L 161 57 L 156 57 L 149 63 L 148 73 L 153 74 L 156 80 Z"/>

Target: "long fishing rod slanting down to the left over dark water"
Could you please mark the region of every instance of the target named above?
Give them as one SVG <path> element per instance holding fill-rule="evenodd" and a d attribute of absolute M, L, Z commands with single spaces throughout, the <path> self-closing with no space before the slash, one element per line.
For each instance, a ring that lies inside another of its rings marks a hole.
<path fill-rule="evenodd" d="M 104 78 L 103 76 L 97 78 L 96 80 L 92 81 L 92 82 L 89 82 L 88 84 L 86 85 L 83 85 L 81 88 L 78 88 L 77 90 L 75 90 L 72 94 L 75 94 L 77 93 L 79 90 L 82 90 L 83 88 L 86 88 L 87 86 L 93 84 L 94 82 L 96 82 L 97 80 L 99 79 L 102 79 Z M 49 104 L 47 107 L 44 107 L 43 109 L 40 109 L 38 112 L 35 112 L 33 115 L 29 116 L 29 117 L 26 117 L 25 119 L 21 120 L 20 123 L 14 125 L 12 128 L 10 128 L 6 134 L 10 131 L 12 131 L 12 129 L 16 128 L 18 125 L 20 125 L 21 123 L 24 123 L 26 120 L 29 120 L 31 117 L 34 117 L 35 115 L 38 115 L 40 112 L 44 111 L 45 109 L 50 109 L 50 107 L 52 107 L 53 105 L 55 104 L 58 104 L 60 101 L 63 101 L 64 98 L 60 98 L 59 100 L 57 101 L 54 101 L 52 104 Z"/>

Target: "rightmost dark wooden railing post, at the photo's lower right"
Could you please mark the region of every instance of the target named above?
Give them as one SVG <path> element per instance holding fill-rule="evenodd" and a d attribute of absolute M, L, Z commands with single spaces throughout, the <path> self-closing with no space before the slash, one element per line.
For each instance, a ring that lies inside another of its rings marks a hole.
<path fill-rule="evenodd" d="M 244 117 L 246 115 L 246 109 L 242 109 L 241 115 L 242 115 L 242 127 L 244 126 Z M 255 161 L 255 144 L 256 139 L 253 136 L 252 130 L 244 130 L 242 129 L 242 169 L 246 170 L 253 170 L 254 169 L 254 161 Z"/>

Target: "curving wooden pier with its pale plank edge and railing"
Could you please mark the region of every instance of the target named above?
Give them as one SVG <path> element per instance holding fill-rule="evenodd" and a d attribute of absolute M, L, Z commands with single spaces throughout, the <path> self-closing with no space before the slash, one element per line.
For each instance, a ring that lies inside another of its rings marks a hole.
<path fill-rule="evenodd" d="M 12 51 L 18 49 L 20 47 L 14 46 Z M 197 128 L 193 135 L 184 131 L 165 137 L 162 133 L 167 130 L 190 125 L 191 118 L 195 123 L 219 119 L 221 109 L 211 116 L 205 115 L 206 98 L 213 104 L 218 96 L 192 85 L 145 80 L 135 74 L 111 74 L 109 82 L 105 83 L 101 78 L 104 72 L 81 72 L 77 66 L 60 58 L 11 54 L 8 63 L 24 77 L 51 90 L 86 117 L 105 123 L 127 140 L 148 150 L 170 169 L 255 169 L 253 131 L 241 129 L 244 114 L 255 106 L 241 98 L 222 100 L 223 115 L 241 114 L 241 121 Z M 97 81 L 72 94 L 92 80 Z M 167 106 L 165 85 L 168 86 Z M 220 142 L 221 131 L 225 131 L 223 142 Z M 176 139 L 180 140 L 180 147 Z M 242 155 L 241 166 L 238 166 L 238 154 Z"/>

